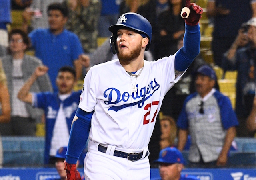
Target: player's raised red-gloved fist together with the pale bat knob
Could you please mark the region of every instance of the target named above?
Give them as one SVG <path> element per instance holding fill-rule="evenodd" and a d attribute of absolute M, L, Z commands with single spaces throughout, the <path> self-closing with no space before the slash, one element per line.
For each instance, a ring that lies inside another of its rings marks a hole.
<path fill-rule="evenodd" d="M 190 3 L 190 0 L 186 0 L 186 7 L 182 8 L 180 16 L 185 20 L 187 25 L 197 25 L 203 9 L 196 5 L 196 3 Z"/>

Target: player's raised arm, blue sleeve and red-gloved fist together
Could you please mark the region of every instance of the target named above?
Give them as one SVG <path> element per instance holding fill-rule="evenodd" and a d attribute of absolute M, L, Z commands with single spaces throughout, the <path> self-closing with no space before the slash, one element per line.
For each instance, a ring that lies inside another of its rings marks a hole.
<path fill-rule="evenodd" d="M 175 70 L 185 71 L 200 52 L 200 27 L 198 25 L 203 9 L 186 0 L 181 16 L 185 20 L 184 45 L 175 56 Z"/>

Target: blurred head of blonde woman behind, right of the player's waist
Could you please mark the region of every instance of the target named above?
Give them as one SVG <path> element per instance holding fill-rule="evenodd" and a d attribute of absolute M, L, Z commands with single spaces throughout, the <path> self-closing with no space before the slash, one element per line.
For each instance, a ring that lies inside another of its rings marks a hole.
<path fill-rule="evenodd" d="M 161 136 L 160 149 L 174 146 L 175 138 L 177 137 L 177 127 L 174 119 L 170 116 L 162 116 L 160 119 Z"/>

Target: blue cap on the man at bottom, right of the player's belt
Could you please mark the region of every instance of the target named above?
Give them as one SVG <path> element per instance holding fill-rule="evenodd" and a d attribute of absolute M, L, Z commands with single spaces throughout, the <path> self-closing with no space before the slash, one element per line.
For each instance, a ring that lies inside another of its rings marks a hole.
<path fill-rule="evenodd" d="M 160 151 L 158 160 L 155 160 L 154 162 L 184 164 L 184 158 L 182 153 L 176 147 L 166 147 Z"/>

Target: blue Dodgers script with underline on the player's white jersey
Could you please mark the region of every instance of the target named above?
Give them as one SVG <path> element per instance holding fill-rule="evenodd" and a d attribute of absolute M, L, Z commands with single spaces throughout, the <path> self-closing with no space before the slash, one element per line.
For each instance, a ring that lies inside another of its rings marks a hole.
<path fill-rule="evenodd" d="M 138 85 L 136 85 L 138 88 Z M 140 88 L 137 92 L 133 92 L 132 94 L 129 94 L 128 92 L 124 92 L 121 94 L 121 92 L 116 88 L 108 88 L 104 91 L 104 97 L 108 98 L 108 100 L 104 101 L 105 104 L 117 104 L 119 102 L 127 102 L 129 98 L 133 98 L 134 100 L 142 98 L 141 100 L 137 102 L 132 102 L 128 104 L 123 104 L 119 106 L 111 106 L 108 108 L 109 110 L 119 111 L 126 107 L 135 106 L 138 104 L 138 108 L 141 108 L 144 105 L 144 102 L 150 98 L 154 92 L 156 92 L 160 88 L 160 85 L 156 82 L 156 79 L 154 79 L 154 82 L 151 81 L 150 84 L 148 84 L 148 87 Z M 139 89 L 139 88 L 138 88 Z"/>

